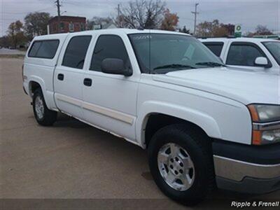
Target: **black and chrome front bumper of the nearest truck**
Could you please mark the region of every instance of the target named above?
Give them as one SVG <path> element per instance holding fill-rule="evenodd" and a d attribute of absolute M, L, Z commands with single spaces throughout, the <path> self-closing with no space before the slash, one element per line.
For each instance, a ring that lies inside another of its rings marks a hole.
<path fill-rule="evenodd" d="M 214 141 L 218 188 L 242 193 L 280 189 L 280 144 L 247 146 Z"/>

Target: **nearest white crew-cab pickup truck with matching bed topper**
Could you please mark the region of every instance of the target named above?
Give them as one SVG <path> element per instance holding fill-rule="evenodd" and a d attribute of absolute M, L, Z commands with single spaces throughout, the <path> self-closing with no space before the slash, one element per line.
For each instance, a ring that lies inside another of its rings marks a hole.
<path fill-rule="evenodd" d="M 174 200 L 200 202 L 214 186 L 280 188 L 279 77 L 225 66 L 192 36 L 37 36 L 22 76 L 40 125 L 62 112 L 146 148 L 155 183 Z"/>

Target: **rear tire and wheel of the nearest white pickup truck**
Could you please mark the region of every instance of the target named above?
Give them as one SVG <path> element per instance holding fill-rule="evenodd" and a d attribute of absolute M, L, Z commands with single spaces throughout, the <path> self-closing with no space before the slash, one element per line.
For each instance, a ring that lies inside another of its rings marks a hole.
<path fill-rule="evenodd" d="M 50 126 L 57 120 L 57 112 L 51 111 L 45 105 L 43 92 L 40 88 L 35 90 L 33 94 L 33 112 L 39 125 Z"/>

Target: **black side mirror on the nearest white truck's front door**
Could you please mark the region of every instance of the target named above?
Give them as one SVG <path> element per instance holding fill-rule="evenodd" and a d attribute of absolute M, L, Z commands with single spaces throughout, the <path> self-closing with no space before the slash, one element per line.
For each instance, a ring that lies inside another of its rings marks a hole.
<path fill-rule="evenodd" d="M 125 69 L 123 59 L 106 58 L 102 61 L 101 69 L 103 73 L 120 74 L 124 76 L 132 76 L 132 69 Z"/>

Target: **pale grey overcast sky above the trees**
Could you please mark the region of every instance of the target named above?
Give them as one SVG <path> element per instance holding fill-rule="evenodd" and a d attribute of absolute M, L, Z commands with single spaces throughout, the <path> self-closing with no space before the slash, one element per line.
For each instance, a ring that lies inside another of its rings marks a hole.
<path fill-rule="evenodd" d="M 57 14 L 55 0 L 0 0 L 1 22 L 0 36 L 6 34 L 8 25 L 15 20 L 24 20 L 30 12 L 48 12 L 50 15 Z M 127 1 L 78 1 L 60 0 L 62 15 L 84 16 L 92 18 L 116 17 L 118 3 L 125 5 Z M 197 22 L 205 20 L 220 20 L 223 23 L 241 24 L 243 31 L 253 31 L 257 25 L 266 25 L 270 30 L 280 32 L 280 0 L 167 0 L 167 8 L 172 13 L 179 15 L 179 26 L 186 25 L 187 29 L 193 30 L 195 2 L 200 3 L 197 7 L 200 13 Z M 66 11 L 66 12 L 64 12 Z"/>

